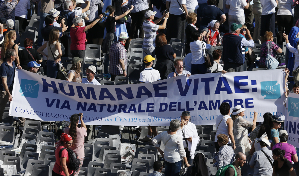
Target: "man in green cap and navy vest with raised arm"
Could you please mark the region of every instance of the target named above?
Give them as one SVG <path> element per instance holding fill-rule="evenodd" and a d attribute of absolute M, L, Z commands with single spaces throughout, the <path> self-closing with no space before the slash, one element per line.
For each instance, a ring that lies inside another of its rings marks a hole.
<path fill-rule="evenodd" d="M 225 63 L 223 70 L 233 68 L 236 72 L 246 71 L 244 47 L 254 47 L 254 41 L 252 40 L 248 29 L 246 30 L 249 41 L 247 41 L 246 38 L 239 36 L 241 27 L 242 24 L 233 23 L 230 27 L 232 32 L 223 36 L 222 60 Z"/>

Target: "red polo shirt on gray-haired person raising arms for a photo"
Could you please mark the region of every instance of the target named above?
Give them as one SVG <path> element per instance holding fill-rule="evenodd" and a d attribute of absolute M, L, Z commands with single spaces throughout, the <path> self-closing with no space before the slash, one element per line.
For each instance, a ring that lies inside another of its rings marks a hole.
<path fill-rule="evenodd" d="M 84 32 L 84 27 L 78 27 L 77 29 L 70 29 L 71 35 L 71 50 L 85 50 L 85 39 L 86 33 Z"/>

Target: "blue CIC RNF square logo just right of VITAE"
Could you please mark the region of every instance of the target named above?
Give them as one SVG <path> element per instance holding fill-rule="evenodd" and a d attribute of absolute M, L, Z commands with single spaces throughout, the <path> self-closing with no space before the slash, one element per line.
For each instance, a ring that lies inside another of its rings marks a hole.
<path fill-rule="evenodd" d="M 280 84 L 277 84 L 277 81 L 261 82 L 261 94 L 265 96 L 265 99 L 280 98 Z"/>

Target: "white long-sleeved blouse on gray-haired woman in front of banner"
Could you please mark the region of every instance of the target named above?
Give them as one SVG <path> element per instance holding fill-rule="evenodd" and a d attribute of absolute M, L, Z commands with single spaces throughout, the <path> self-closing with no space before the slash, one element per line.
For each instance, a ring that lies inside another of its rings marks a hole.
<path fill-rule="evenodd" d="M 155 147 L 159 147 L 158 142 L 162 140 L 165 143 L 168 139 L 171 138 L 165 146 L 164 149 L 164 159 L 168 163 L 176 163 L 181 161 L 182 158 L 186 157 L 186 152 L 183 146 L 183 138 L 177 134 L 170 135 L 167 131 L 161 132 L 155 138 L 152 139 L 152 143 Z"/>

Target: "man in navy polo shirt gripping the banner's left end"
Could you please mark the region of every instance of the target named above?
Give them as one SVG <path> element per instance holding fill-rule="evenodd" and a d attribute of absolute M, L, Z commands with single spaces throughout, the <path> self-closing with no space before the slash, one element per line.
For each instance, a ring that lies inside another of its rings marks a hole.
<path fill-rule="evenodd" d="M 13 90 L 13 79 L 16 68 L 22 69 L 21 66 L 14 63 L 16 60 L 16 51 L 14 49 L 6 50 L 5 57 L 6 61 L 0 66 L 0 122 L 2 121 L 3 112 L 7 101 L 12 101 L 11 96 Z"/>

